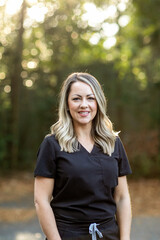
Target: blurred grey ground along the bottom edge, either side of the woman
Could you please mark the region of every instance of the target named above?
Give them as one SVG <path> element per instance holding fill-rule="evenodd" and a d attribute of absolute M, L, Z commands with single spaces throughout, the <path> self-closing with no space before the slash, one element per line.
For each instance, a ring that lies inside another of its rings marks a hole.
<path fill-rule="evenodd" d="M 26 223 L 2 223 L 0 240 L 44 240 L 37 218 Z M 131 240 L 160 240 L 160 217 L 134 217 Z"/>

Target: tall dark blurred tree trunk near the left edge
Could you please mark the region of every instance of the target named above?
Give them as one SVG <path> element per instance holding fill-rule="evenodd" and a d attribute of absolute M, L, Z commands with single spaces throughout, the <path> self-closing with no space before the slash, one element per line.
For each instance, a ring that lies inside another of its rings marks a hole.
<path fill-rule="evenodd" d="M 21 88 L 21 71 L 22 71 L 22 51 L 23 51 L 23 22 L 25 14 L 25 1 L 22 4 L 22 8 L 19 14 L 18 35 L 15 43 L 15 49 L 13 50 L 13 70 L 11 70 L 11 141 L 10 141 L 10 166 L 15 168 L 18 165 L 18 143 L 19 143 L 19 115 L 20 115 L 20 88 Z"/>

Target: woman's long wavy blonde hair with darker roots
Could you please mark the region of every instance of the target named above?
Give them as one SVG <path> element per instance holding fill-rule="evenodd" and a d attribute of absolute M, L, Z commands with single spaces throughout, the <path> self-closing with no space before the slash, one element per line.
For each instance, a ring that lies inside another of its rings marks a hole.
<path fill-rule="evenodd" d="M 101 85 L 95 77 L 88 73 L 72 73 L 64 81 L 60 92 L 59 120 L 51 126 L 51 134 L 54 134 L 58 140 L 61 151 L 71 153 L 79 150 L 78 139 L 68 111 L 68 96 L 71 85 L 77 81 L 88 84 L 95 95 L 98 107 L 97 114 L 93 119 L 91 135 L 95 144 L 100 146 L 104 153 L 111 155 L 118 133 L 113 131 L 112 122 L 106 115 L 107 103 Z"/>

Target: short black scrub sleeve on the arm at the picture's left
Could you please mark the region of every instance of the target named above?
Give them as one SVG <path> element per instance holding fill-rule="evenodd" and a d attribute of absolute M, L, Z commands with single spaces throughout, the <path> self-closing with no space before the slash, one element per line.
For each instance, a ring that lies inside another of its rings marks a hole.
<path fill-rule="evenodd" d="M 54 142 L 50 137 L 44 138 L 37 153 L 37 163 L 34 176 L 42 176 L 47 178 L 55 178 L 56 161 Z"/>

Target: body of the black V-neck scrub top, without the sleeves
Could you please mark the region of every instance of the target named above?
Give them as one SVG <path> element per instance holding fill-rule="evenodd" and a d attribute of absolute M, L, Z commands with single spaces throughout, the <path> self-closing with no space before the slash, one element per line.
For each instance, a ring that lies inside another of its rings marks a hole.
<path fill-rule="evenodd" d="M 53 139 L 52 139 L 53 140 Z M 55 140 L 54 140 L 55 144 Z M 56 178 L 51 206 L 57 222 L 92 222 L 115 215 L 118 162 L 96 145 L 74 153 L 56 143 Z"/>

